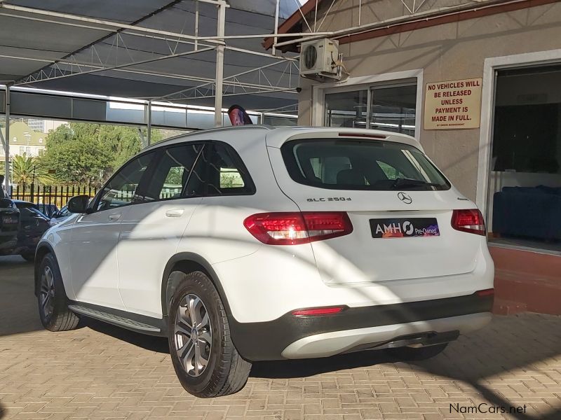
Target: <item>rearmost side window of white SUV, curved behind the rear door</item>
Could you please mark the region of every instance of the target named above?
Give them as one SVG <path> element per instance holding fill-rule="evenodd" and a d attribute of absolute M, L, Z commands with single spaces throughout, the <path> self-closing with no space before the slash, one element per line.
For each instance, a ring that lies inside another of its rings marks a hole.
<path fill-rule="evenodd" d="M 206 153 L 205 153 L 206 152 Z M 238 153 L 227 144 L 208 145 L 203 151 L 207 161 L 206 195 L 248 195 L 255 186 Z"/>

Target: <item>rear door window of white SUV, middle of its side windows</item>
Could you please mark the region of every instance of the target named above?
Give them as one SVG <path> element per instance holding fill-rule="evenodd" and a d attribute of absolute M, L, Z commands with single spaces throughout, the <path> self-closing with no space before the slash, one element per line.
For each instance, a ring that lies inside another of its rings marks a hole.
<path fill-rule="evenodd" d="M 181 197 L 200 151 L 201 144 L 165 148 L 158 167 L 151 176 L 144 201 Z"/>

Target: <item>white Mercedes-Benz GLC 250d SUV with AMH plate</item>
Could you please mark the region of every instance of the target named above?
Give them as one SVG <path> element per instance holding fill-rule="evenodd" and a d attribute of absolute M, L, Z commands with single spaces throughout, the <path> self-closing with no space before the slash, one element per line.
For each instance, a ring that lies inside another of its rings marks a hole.
<path fill-rule="evenodd" d="M 144 149 L 36 251 L 45 328 L 168 337 L 200 397 L 252 361 L 440 353 L 491 318 L 485 224 L 403 134 L 245 126 Z"/>

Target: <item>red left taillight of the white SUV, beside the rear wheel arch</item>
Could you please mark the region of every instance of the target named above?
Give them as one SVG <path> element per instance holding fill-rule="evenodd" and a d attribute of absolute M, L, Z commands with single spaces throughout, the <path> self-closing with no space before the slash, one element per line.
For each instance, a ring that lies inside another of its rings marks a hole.
<path fill-rule="evenodd" d="M 269 245 L 308 244 L 349 235 L 353 225 L 344 211 L 258 213 L 243 221 L 251 235 Z"/>

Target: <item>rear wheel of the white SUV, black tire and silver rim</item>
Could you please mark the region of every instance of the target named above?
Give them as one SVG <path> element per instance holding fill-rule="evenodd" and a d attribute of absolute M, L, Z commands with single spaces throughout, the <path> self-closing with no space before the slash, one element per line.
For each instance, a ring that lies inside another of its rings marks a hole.
<path fill-rule="evenodd" d="M 214 284 L 200 271 L 170 274 L 177 276 L 180 282 L 170 304 L 168 342 L 180 383 L 200 398 L 238 392 L 248 381 L 251 363 L 240 356 L 231 340 L 226 310 Z"/>

